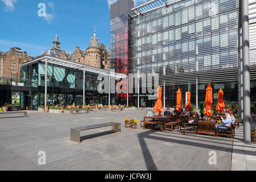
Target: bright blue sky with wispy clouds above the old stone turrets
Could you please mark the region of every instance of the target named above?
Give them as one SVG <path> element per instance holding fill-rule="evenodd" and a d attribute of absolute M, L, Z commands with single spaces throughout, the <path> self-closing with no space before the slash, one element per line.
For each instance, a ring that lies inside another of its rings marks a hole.
<path fill-rule="evenodd" d="M 117 0 L 0 0 L 0 51 L 20 47 L 38 56 L 52 47 L 55 35 L 61 49 L 86 49 L 94 25 L 99 42 L 110 44 L 109 5 Z M 136 4 L 144 0 L 135 1 Z M 39 3 L 46 5 L 46 17 L 39 17 Z"/>

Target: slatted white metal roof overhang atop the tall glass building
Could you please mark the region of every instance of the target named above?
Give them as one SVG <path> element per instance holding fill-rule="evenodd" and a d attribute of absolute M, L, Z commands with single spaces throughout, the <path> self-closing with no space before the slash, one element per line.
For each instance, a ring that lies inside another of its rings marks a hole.
<path fill-rule="evenodd" d="M 142 15 L 144 13 L 148 13 L 149 11 L 159 9 L 164 6 L 168 7 L 172 3 L 179 1 L 181 0 L 151 0 L 134 7 L 133 9 L 131 9 L 131 11 L 133 11 L 133 13 L 135 13 L 136 15 Z"/>

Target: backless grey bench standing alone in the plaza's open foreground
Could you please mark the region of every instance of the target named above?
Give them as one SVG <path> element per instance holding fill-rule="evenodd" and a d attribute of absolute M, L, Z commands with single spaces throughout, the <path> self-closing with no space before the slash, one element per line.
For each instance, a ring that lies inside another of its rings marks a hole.
<path fill-rule="evenodd" d="M 121 132 L 121 123 L 115 123 L 115 122 L 110 122 L 110 123 L 102 123 L 98 125 L 90 125 L 90 126 L 82 126 L 82 127 L 73 127 L 70 130 L 70 140 L 73 142 L 80 143 L 80 132 L 85 131 L 85 130 L 92 130 L 92 129 L 98 129 L 100 127 L 108 127 L 112 126 L 112 131 L 113 132 Z"/>

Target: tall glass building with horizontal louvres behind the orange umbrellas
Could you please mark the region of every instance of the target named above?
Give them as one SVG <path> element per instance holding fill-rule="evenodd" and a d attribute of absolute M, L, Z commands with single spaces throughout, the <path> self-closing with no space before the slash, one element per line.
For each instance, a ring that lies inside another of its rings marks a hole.
<path fill-rule="evenodd" d="M 125 7 L 123 1 L 116 2 L 110 7 L 111 14 L 118 11 L 120 19 L 120 9 Z M 129 18 L 122 24 L 128 25 L 129 32 L 128 70 L 139 75 L 158 73 L 164 106 L 176 105 L 178 88 L 182 93 L 181 105 L 185 106 L 188 90 L 192 105 L 204 103 L 208 83 L 213 87 L 213 102 L 217 102 L 220 88 L 224 90 L 226 105 L 238 101 L 238 0 L 151 0 L 126 11 Z M 110 55 L 115 69 L 121 61 L 116 53 L 118 43 L 114 41 L 114 35 L 122 28 L 114 21 L 118 18 L 111 16 Z M 255 62 L 251 56 L 251 102 L 255 101 L 256 93 Z M 130 105 L 141 106 L 145 101 L 148 107 L 154 106 L 155 100 L 150 100 L 147 94 L 133 94 Z"/>

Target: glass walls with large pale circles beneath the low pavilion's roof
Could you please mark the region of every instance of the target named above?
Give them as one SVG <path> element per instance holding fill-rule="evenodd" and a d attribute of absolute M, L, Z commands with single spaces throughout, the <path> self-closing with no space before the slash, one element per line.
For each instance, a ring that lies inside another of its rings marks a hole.
<path fill-rule="evenodd" d="M 40 61 L 21 68 L 23 78 L 31 80 L 30 109 L 44 105 L 46 64 Z M 79 69 L 47 65 L 47 105 L 82 105 L 83 71 Z M 97 73 L 85 72 L 85 105 L 108 105 L 108 94 L 97 92 Z"/>

